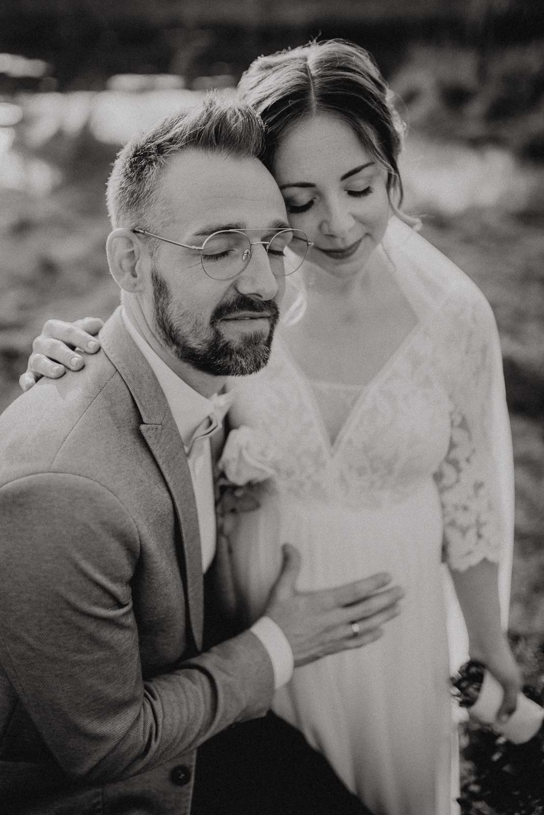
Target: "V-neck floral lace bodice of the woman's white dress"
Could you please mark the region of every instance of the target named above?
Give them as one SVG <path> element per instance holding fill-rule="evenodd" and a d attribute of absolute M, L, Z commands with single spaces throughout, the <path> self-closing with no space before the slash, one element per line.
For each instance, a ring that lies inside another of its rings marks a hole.
<path fill-rule="evenodd" d="M 281 338 L 266 368 L 236 390 L 230 415 L 266 440 L 270 489 L 353 509 L 403 500 L 450 443 L 450 399 L 432 374 L 423 331 L 359 392 L 332 445 L 314 390 Z"/>

